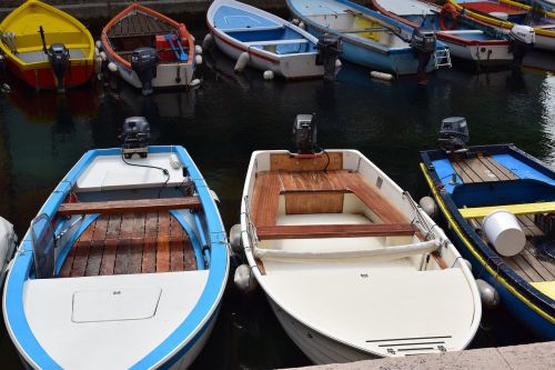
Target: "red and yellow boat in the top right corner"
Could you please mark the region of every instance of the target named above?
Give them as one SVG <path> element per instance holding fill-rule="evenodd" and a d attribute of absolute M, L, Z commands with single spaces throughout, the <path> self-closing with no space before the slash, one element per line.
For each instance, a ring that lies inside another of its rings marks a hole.
<path fill-rule="evenodd" d="M 555 13 L 509 0 L 447 1 L 458 12 L 500 29 L 511 30 L 515 24 L 529 26 L 536 34 L 534 48 L 555 51 Z"/>

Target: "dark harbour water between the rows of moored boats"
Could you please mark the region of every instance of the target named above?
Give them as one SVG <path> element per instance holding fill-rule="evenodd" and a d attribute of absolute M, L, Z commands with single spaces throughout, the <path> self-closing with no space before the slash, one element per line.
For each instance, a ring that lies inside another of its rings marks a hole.
<path fill-rule="evenodd" d="M 297 113 L 317 114 L 322 147 L 361 150 L 415 199 L 427 193 L 418 150 L 434 147 L 438 123 L 448 116 L 467 118 L 471 144 L 514 142 L 555 167 L 555 76 L 548 72 L 442 70 L 418 86 L 412 78 L 374 81 L 367 70 L 344 66 L 335 82 L 266 82 L 258 71 L 234 74 L 231 60 L 213 54 L 198 70 L 200 88 L 149 98 L 123 84 L 113 92 L 95 82 L 58 96 L 10 81 L 12 92 L 0 96 L 0 214 L 22 236 L 85 150 L 120 144 L 117 137 L 129 116 L 148 118 L 152 143 L 189 150 L 222 200 L 226 228 L 239 221 L 251 152 L 291 148 Z M 0 334 L 0 363 L 18 367 L 6 330 Z M 534 340 L 497 310 L 486 312 L 473 347 Z M 229 289 L 194 368 L 305 364 L 307 359 L 287 339 L 261 292 L 243 297 Z"/>

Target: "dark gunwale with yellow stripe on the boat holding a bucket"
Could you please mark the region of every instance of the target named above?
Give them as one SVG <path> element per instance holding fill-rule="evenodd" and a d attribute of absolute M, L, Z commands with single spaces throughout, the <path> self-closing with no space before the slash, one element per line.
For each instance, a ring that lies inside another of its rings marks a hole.
<path fill-rule="evenodd" d="M 475 146 L 475 147 L 470 147 L 470 149 L 488 150 L 490 152 L 495 152 L 495 153 L 514 154 L 515 158 L 529 164 L 536 170 L 541 170 L 544 173 L 545 171 L 551 172 L 552 177 L 555 177 L 555 173 L 547 167 L 545 167 L 545 164 L 543 164 L 542 161 L 522 151 L 512 143 L 494 144 L 494 146 Z M 444 156 L 442 154 L 443 151 L 437 149 L 421 151 L 421 158 L 422 158 L 421 170 L 423 171 L 430 188 L 432 188 L 434 184 L 442 183 L 432 163 L 432 160 L 434 158 L 444 158 Z M 463 233 L 460 233 L 455 228 L 454 231 L 458 234 L 458 237 L 465 244 L 464 247 L 468 249 L 468 251 L 471 251 L 471 253 L 474 257 L 476 257 L 478 262 L 482 266 L 484 266 L 488 270 L 488 272 L 495 278 L 495 280 L 498 280 L 509 292 L 512 292 L 513 294 L 514 292 L 516 292 L 517 294 L 514 296 L 516 296 L 518 300 L 524 302 L 527 307 L 532 308 L 535 312 L 541 314 L 549 322 L 555 323 L 555 316 L 553 313 L 549 313 L 549 311 L 554 311 L 555 300 L 547 297 L 546 294 L 534 288 L 524 278 L 522 278 L 516 271 L 514 271 L 514 269 L 508 267 L 503 261 L 503 259 L 492 248 L 490 248 L 490 246 L 487 246 L 487 243 L 485 243 L 476 234 L 471 224 L 462 217 L 451 194 L 448 194 L 446 191 L 438 191 L 436 188 L 433 188 L 431 190 L 434 192 L 434 198 L 436 198 L 436 200 L 437 197 L 440 197 L 441 201 L 443 202 L 443 206 L 445 207 L 445 211 L 448 211 L 448 214 L 445 214 L 447 222 L 452 224 L 450 220 L 451 218 L 453 222 L 456 222 L 456 226 L 461 228 L 461 231 Z M 440 204 L 440 209 L 444 211 L 444 209 L 441 206 L 442 204 Z"/>

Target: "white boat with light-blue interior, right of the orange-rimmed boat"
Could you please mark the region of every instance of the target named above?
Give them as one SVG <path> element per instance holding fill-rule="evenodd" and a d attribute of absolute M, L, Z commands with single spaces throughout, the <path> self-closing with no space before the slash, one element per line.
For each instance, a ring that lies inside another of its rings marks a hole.
<path fill-rule="evenodd" d="M 287 79 L 324 74 L 323 64 L 316 62 L 317 39 L 274 14 L 239 1 L 216 0 L 208 10 L 206 23 L 218 48 L 238 60 L 236 70 L 246 64 Z"/>

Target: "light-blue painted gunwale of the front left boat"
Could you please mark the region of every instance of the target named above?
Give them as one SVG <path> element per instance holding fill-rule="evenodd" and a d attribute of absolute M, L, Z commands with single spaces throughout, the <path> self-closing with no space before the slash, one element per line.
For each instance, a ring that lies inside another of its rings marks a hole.
<path fill-rule="evenodd" d="M 121 149 L 119 148 L 87 151 L 54 188 L 38 214 L 46 213 L 51 217 L 56 214 L 57 209 L 71 191 L 79 176 L 83 173 L 95 158 L 101 156 L 119 156 L 120 152 Z M 214 319 L 214 313 L 218 312 L 229 272 L 225 230 L 223 229 L 221 216 L 218 212 L 216 204 L 210 194 L 204 178 L 183 147 L 149 147 L 149 153 L 159 152 L 175 153 L 183 163 L 183 167 L 188 168 L 189 174 L 196 184 L 196 191 L 205 212 L 206 233 L 210 236 L 211 262 L 206 286 L 190 314 L 161 343 L 149 353 L 145 353 L 138 363 L 133 364 L 133 369 L 165 366 L 172 360 L 179 360 L 175 357 L 194 344 L 206 330 L 210 321 Z M 28 364 L 31 364 L 33 368 L 59 368 L 60 366 L 56 360 L 46 352 L 44 348 L 34 338 L 24 313 L 20 313 L 24 312 L 23 290 L 24 282 L 30 279 L 30 271 L 33 263 L 32 256 L 30 230 L 28 230 L 18 247 L 16 256 L 10 262 L 10 270 L 6 277 L 2 299 L 3 318 L 12 342 L 21 358 Z M 192 330 L 190 327 L 192 327 Z M 182 331 L 185 332 L 182 333 Z"/>

